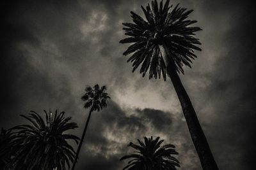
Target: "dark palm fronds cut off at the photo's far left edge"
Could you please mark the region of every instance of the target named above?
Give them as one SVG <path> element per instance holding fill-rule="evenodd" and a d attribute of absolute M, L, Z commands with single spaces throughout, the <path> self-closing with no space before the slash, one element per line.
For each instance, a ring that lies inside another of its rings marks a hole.
<path fill-rule="evenodd" d="M 6 168 L 6 165 L 11 162 L 13 135 L 10 130 L 1 129 L 0 134 L 0 169 Z"/>

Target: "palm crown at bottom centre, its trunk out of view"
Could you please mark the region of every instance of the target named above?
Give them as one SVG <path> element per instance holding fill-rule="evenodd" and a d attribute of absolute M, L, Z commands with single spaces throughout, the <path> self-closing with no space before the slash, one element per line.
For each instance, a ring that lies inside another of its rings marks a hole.
<path fill-rule="evenodd" d="M 123 170 L 176 170 L 175 166 L 180 167 L 179 160 L 172 157 L 178 154 L 175 146 L 161 146 L 164 140 L 159 141 L 159 139 L 159 137 L 153 139 L 151 136 L 151 138 L 144 137 L 144 143 L 138 139 L 139 145 L 130 143 L 128 146 L 137 151 L 120 159 L 131 159 Z"/>

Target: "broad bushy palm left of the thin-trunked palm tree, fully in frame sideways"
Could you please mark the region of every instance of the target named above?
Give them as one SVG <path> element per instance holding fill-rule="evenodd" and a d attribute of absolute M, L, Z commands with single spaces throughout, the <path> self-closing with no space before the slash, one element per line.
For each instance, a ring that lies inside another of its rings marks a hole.
<path fill-rule="evenodd" d="M 12 161 L 14 169 L 65 169 L 74 161 L 76 152 L 67 139 L 78 144 L 79 138 L 73 134 L 65 134 L 70 129 L 77 128 L 77 124 L 69 122 L 71 117 L 64 117 L 64 112 L 52 115 L 44 110 L 46 124 L 40 115 L 31 111 L 29 116 L 21 115 L 29 120 L 31 125 L 13 127 L 15 139 L 13 145 L 19 146 L 17 155 Z"/>

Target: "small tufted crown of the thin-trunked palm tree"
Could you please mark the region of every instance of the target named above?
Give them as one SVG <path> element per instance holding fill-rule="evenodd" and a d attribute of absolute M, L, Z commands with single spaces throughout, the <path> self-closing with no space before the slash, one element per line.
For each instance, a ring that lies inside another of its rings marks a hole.
<path fill-rule="evenodd" d="M 91 111 L 100 111 L 102 108 L 107 106 L 108 93 L 106 93 L 107 87 L 106 85 L 100 87 L 98 84 L 94 85 L 94 87 L 86 87 L 85 94 L 81 97 L 84 103 L 84 108 L 91 108 Z"/>

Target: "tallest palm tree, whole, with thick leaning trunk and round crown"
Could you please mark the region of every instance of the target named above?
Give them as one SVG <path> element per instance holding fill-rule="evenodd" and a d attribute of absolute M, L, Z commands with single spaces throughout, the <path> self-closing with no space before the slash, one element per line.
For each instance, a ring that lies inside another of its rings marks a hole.
<path fill-rule="evenodd" d="M 149 78 L 161 78 L 161 73 L 164 81 L 166 75 L 170 77 L 202 167 L 204 170 L 216 170 L 218 167 L 207 139 L 177 74 L 184 74 L 182 66 L 191 67 L 192 59 L 196 57 L 194 50 L 201 50 L 196 46 L 200 45 L 200 41 L 195 38 L 195 32 L 201 29 L 190 26 L 195 20 L 187 20 L 193 10 L 180 8 L 179 4 L 172 8 L 169 0 L 165 4 L 161 1 L 159 5 L 155 0 L 151 6 L 148 4 L 146 8 L 141 8 L 147 21 L 131 11 L 134 23 L 123 23 L 125 35 L 129 38 L 122 39 L 120 43 L 133 43 L 124 52 L 124 55 L 132 53 L 127 62 L 132 62 L 132 72 L 141 65 L 140 73 L 143 76 L 148 71 Z"/>

